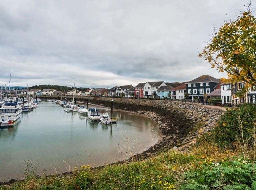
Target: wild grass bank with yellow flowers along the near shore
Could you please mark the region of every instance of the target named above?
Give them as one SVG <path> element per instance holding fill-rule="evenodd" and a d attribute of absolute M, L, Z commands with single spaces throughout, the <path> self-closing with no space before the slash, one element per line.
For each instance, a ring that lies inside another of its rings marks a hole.
<path fill-rule="evenodd" d="M 178 189 L 186 182 L 184 173 L 200 168 L 203 162 L 221 162 L 240 151 L 220 150 L 211 145 L 193 147 L 190 154 L 169 151 L 143 161 L 112 164 L 103 168 L 81 166 L 69 175 L 27 176 L 1 190 L 80 189 Z"/>

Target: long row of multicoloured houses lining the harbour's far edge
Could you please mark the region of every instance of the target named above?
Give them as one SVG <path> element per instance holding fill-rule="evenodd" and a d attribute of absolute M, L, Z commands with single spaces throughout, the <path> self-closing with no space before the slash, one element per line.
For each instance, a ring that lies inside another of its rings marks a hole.
<path fill-rule="evenodd" d="M 111 89 L 96 88 L 85 91 L 69 90 L 67 92 L 56 91 L 55 89 L 43 90 L 20 90 L 19 95 L 75 95 L 75 96 L 125 96 L 134 98 L 171 98 L 184 99 L 185 93 L 192 100 L 204 98 L 221 98 L 223 104 L 236 106 L 241 103 L 255 102 L 256 86 L 251 87 L 244 97 L 235 97 L 237 92 L 241 92 L 245 87 L 244 82 L 226 84 L 220 79 L 209 75 L 203 75 L 192 81 L 186 82 L 176 88 L 168 86 L 164 81 L 139 83 L 135 87 L 132 85 L 115 86 Z M 11 92 L 9 92 L 11 94 Z"/>

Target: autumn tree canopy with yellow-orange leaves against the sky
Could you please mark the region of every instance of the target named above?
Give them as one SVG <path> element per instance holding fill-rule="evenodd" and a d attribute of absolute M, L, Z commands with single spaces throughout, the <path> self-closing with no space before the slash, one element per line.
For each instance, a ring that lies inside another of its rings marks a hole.
<path fill-rule="evenodd" d="M 222 81 L 245 81 L 246 88 L 256 86 L 256 20 L 250 6 L 235 21 L 214 31 L 213 38 L 198 55 L 218 72 L 227 73 Z"/>

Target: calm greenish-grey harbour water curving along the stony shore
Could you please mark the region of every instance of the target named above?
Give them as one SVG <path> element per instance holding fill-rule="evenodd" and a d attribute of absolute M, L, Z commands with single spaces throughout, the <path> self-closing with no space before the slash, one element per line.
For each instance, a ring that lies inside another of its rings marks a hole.
<path fill-rule="evenodd" d="M 98 109 L 101 114 L 111 114 L 108 108 Z M 34 164 L 38 160 L 39 175 L 56 174 L 81 165 L 124 160 L 129 152 L 148 149 L 162 135 L 148 118 L 122 111 L 113 111 L 113 116 L 118 122 L 112 126 L 90 122 L 87 115 L 66 113 L 52 102 L 41 102 L 31 112 L 22 112 L 15 127 L 0 129 L 0 181 L 23 179 L 24 159 Z"/>

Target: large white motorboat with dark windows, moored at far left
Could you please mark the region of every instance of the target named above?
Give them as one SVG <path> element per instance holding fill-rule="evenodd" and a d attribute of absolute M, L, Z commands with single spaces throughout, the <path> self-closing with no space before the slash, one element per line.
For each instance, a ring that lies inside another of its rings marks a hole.
<path fill-rule="evenodd" d="M 18 118 L 20 118 L 21 114 L 21 107 L 16 102 L 11 103 L 5 103 L 0 107 L 0 120 L 3 121 L 16 121 Z"/>

